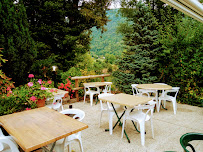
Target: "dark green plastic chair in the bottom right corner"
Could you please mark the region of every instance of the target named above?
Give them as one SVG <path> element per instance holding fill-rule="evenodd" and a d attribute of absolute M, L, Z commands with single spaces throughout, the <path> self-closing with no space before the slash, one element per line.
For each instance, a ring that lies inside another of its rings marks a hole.
<path fill-rule="evenodd" d="M 203 133 L 186 133 L 180 137 L 180 144 L 183 147 L 185 152 L 190 152 L 186 147 L 190 147 L 193 152 L 195 152 L 194 147 L 189 143 L 192 140 L 203 140 Z"/>

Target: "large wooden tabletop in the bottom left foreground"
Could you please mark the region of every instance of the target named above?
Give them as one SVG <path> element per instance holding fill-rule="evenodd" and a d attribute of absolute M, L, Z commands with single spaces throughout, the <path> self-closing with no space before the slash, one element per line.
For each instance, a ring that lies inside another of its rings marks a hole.
<path fill-rule="evenodd" d="M 88 128 L 86 124 L 47 107 L 1 116 L 0 122 L 25 152 Z"/>

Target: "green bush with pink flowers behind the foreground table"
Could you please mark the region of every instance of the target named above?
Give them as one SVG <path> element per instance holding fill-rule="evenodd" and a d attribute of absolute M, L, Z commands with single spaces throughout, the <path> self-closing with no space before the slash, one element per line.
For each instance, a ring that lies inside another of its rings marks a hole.
<path fill-rule="evenodd" d="M 52 81 L 34 79 L 30 74 L 30 82 L 26 85 L 7 90 L 7 94 L 0 96 L 0 115 L 36 108 L 38 99 L 52 98 L 54 90 L 47 91 L 46 88 L 53 88 Z"/>

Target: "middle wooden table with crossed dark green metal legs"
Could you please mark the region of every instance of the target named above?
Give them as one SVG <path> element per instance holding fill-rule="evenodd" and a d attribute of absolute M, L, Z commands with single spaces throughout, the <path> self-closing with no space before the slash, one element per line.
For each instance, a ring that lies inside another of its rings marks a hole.
<path fill-rule="evenodd" d="M 113 96 L 105 96 L 105 97 L 101 97 L 99 99 L 102 100 L 102 101 L 110 102 L 113 109 L 114 109 L 114 112 L 115 112 L 115 114 L 116 114 L 116 116 L 118 118 L 118 121 L 114 125 L 113 129 L 116 127 L 116 125 L 118 123 L 120 123 L 120 125 L 122 124 L 120 120 L 121 120 L 121 118 L 123 117 L 123 115 L 125 113 L 125 111 L 124 111 L 123 114 L 119 117 L 113 104 L 119 104 L 119 105 L 122 105 L 122 106 L 133 108 L 133 107 L 135 107 L 135 106 L 137 106 L 139 104 L 144 104 L 144 103 L 147 103 L 148 101 L 152 100 L 152 98 L 139 97 L 139 96 L 124 94 L 124 93 L 115 94 Z M 132 123 L 135 126 L 133 121 L 132 121 Z M 135 128 L 136 128 L 136 126 L 135 126 Z M 136 130 L 137 130 L 137 128 L 136 128 Z M 106 131 L 108 131 L 108 129 L 106 129 Z M 125 130 L 124 130 L 124 133 L 125 133 L 125 136 L 126 136 L 128 142 L 130 143 L 130 139 L 128 138 L 127 133 L 125 132 Z"/>

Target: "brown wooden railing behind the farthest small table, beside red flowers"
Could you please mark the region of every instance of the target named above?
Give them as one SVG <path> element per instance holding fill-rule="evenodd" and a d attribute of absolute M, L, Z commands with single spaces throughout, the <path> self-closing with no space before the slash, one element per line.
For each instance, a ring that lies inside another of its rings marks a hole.
<path fill-rule="evenodd" d="M 109 76 L 110 76 L 110 74 L 71 77 L 71 80 L 75 80 L 75 88 L 72 88 L 72 90 L 75 91 L 75 96 L 77 98 L 77 102 L 79 101 L 78 90 L 84 89 L 84 87 L 79 87 L 79 80 L 101 78 L 101 82 L 104 82 L 104 77 L 109 77 Z"/>

